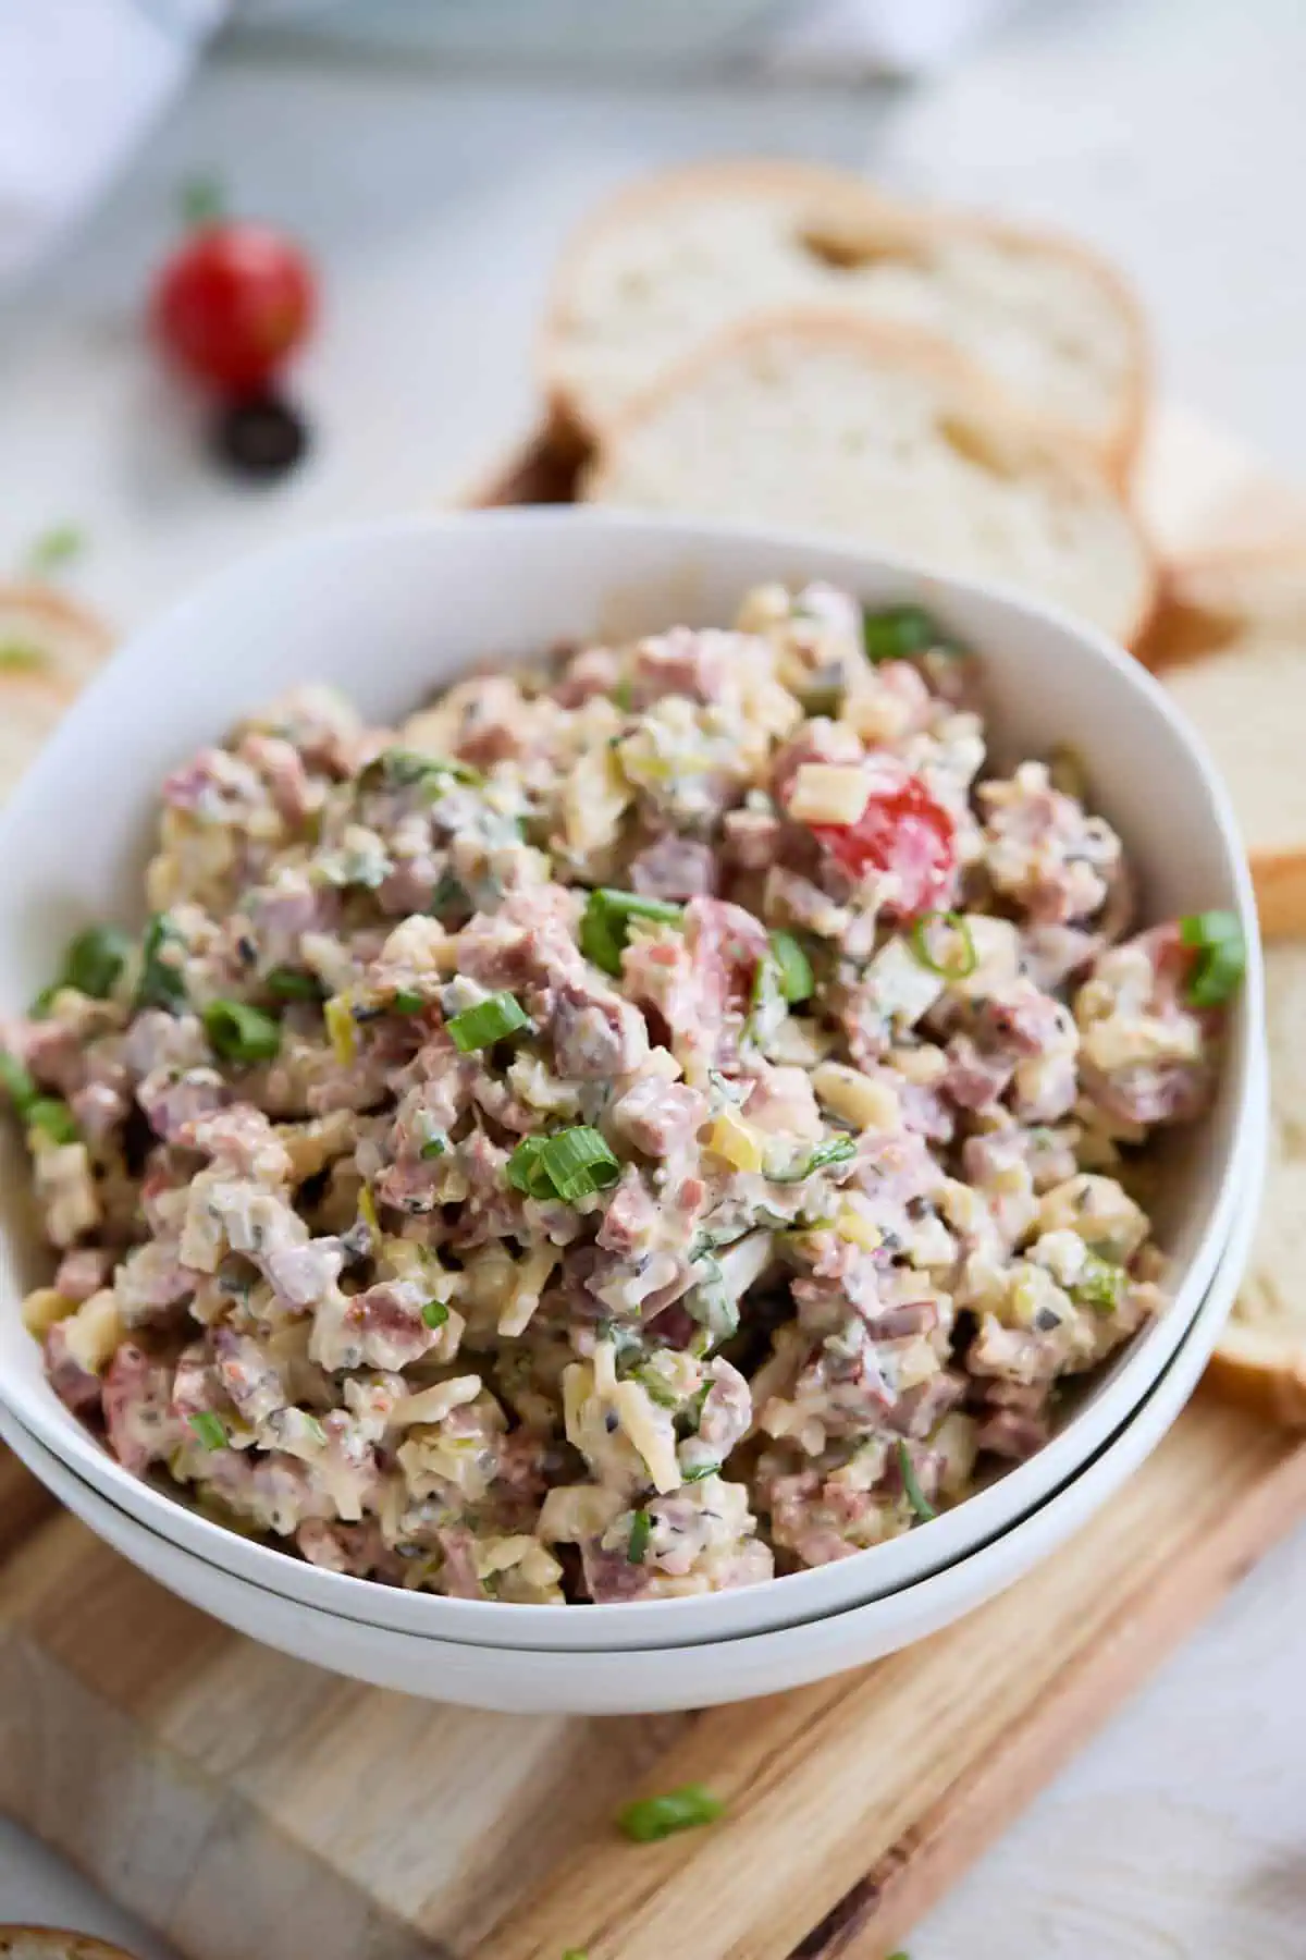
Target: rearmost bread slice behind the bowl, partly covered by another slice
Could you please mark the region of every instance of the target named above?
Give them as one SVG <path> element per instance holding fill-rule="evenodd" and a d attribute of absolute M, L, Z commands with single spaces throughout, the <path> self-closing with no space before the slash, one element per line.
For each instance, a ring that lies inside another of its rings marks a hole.
<path fill-rule="evenodd" d="M 544 323 L 554 414 L 595 441 L 703 341 L 781 308 L 928 333 L 1114 474 L 1138 449 L 1147 337 L 1108 265 L 785 161 L 670 171 L 597 212 L 562 259 Z"/>

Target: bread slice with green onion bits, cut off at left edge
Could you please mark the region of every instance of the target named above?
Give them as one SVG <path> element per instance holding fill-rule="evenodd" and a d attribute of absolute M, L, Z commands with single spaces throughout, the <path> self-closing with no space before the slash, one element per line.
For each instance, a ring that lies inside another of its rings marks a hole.
<path fill-rule="evenodd" d="M 63 592 L 0 586 L 0 796 L 112 647 L 102 621 Z"/>

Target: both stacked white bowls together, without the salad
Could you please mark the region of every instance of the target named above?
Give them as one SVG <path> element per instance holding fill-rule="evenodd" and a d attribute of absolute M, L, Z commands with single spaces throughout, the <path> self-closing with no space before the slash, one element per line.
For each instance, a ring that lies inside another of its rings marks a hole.
<path fill-rule="evenodd" d="M 719 623 L 756 584 L 828 580 L 926 606 L 983 662 L 999 762 L 1073 739 L 1124 837 L 1145 917 L 1241 917 L 1247 974 L 1212 1109 L 1165 1154 L 1165 1311 L 1053 1439 L 903 1539 L 736 1592 L 505 1605 L 321 1570 L 129 1476 L 57 1399 L 20 1301 L 41 1278 L 14 1139 L 0 1219 L 0 1433 L 145 1572 L 241 1633 L 343 1674 L 491 1709 L 703 1707 L 836 1674 L 938 1631 L 1077 1531 L 1155 1446 L 1232 1303 L 1255 1223 L 1267 1074 L 1255 911 L 1234 819 L 1194 739 L 1128 655 L 995 590 L 793 535 L 578 510 L 396 519 L 241 564 L 123 649 L 4 813 L 0 1002 L 31 1000 L 69 931 L 127 917 L 157 784 L 251 704 L 329 680 L 394 717 L 468 666 L 566 641 Z"/>

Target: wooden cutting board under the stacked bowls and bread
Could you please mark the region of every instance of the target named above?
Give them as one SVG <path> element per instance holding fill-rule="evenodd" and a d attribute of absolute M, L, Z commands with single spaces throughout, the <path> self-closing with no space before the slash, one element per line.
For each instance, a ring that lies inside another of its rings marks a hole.
<path fill-rule="evenodd" d="M 544 441 L 480 502 L 556 500 Z M 1143 474 L 1165 549 L 1284 525 L 1200 423 Z M 770 1701 L 478 1715 L 258 1648 L 0 1464 L 0 1807 L 194 1960 L 879 1960 L 1294 1523 L 1306 1443 L 1198 1394 L 1077 1541 L 889 1660 Z M 726 1819 L 611 1825 L 711 1782 Z"/>

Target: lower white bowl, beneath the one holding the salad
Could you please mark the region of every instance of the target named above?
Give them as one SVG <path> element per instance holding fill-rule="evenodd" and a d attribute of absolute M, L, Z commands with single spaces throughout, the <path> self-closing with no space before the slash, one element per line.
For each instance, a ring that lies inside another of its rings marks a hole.
<path fill-rule="evenodd" d="M 1234 1237 L 1210 1292 L 1149 1396 L 1093 1462 L 1020 1523 L 948 1570 L 805 1625 L 601 1654 L 474 1646 L 364 1627 L 182 1550 L 76 1478 L 2 1409 L 0 1435 L 70 1511 L 151 1578 L 239 1633 L 337 1674 L 431 1701 L 523 1715 L 636 1715 L 748 1701 L 879 1660 L 952 1625 L 1024 1578 L 1138 1470 L 1192 1394 L 1237 1292 L 1265 1182 L 1267 1135 L 1261 1072 Z"/>

